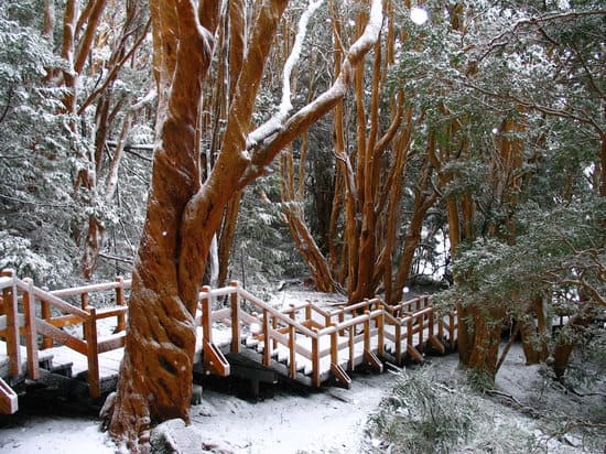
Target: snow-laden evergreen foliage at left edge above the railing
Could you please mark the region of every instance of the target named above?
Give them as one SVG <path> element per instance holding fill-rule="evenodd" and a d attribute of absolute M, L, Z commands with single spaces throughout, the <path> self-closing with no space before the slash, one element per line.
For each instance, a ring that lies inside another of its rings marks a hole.
<path fill-rule="evenodd" d="M 63 93 L 42 83 L 61 62 L 21 7 L 0 6 L 0 266 L 52 284 L 73 271 L 78 162 L 66 153 L 67 118 L 56 114 Z"/>

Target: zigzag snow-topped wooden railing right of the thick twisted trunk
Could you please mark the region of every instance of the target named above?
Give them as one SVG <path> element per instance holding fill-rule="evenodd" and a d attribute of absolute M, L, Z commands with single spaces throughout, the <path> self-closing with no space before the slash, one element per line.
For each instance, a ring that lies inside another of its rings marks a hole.
<path fill-rule="evenodd" d="M 228 296 L 228 305 L 213 310 L 221 296 Z M 344 366 L 353 370 L 364 363 L 382 369 L 378 357 L 385 354 L 386 340 L 394 345 L 393 356 L 400 365 L 404 353 L 423 361 L 425 340 L 435 350 L 444 353 L 441 342 L 444 334 L 448 333 L 451 345 L 455 339 L 455 315 L 451 314 L 446 322 L 435 320 L 428 296 L 391 307 L 383 306 L 382 301 L 375 298 L 351 305 L 344 303 L 333 311 L 311 302 L 278 310 L 232 282 L 224 289 L 203 288 L 199 301 L 196 322 L 203 331 L 205 367 L 219 375 L 228 375 L 229 365 L 220 352 L 209 352 L 215 344 L 212 328 L 215 322 L 229 323 L 231 353 L 239 353 L 246 338 L 252 339 L 260 344 L 258 350 L 262 352 L 262 364 L 269 366 L 274 353 L 280 357 L 282 348 L 288 355 L 288 375 L 294 378 L 297 361 L 307 363 L 314 386 L 320 386 L 322 374 L 329 370 L 339 385 L 349 387 L 350 379 Z M 242 310 L 244 302 L 253 307 L 251 313 Z"/>

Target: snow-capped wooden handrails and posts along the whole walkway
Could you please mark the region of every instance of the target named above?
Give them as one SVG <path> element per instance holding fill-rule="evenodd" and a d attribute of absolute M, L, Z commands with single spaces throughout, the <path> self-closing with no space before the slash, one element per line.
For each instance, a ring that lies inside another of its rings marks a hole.
<path fill-rule="evenodd" d="M 28 359 L 30 361 L 28 369 L 29 372 L 34 374 L 31 378 L 35 379 L 35 374 L 37 374 L 33 364 L 36 363 L 37 355 L 36 337 L 41 334 L 43 338 L 54 338 L 87 356 L 90 394 L 98 396 L 100 390 L 98 355 L 119 348 L 125 344 L 126 333 L 123 329 L 126 325 L 123 321 L 128 311 L 125 289 L 129 289 L 131 284 L 130 280 L 118 278 L 115 282 L 44 291 L 34 287 L 31 280 L 19 280 L 14 273 L 0 277 L 0 293 L 10 303 L 11 307 L 9 309 L 17 313 L 14 306 L 21 307 L 22 305 L 25 312 L 25 314 L 18 315 L 22 321 L 19 323 L 19 328 L 28 340 Z M 89 295 L 94 292 L 107 291 L 116 292 L 116 306 L 91 307 Z M 199 323 L 204 328 L 203 346 L 205 353 L 213 357 L 210 359 L 213 370 L 219 371 L 221 375 L 229 372 L 229 364 L 221 359 L 220 350 L 213 344 L 213 323 L 230 323 L 230 346 L 231 352 L 235 353 L 241 348 L 240 327 L 257 324 L 260 326 L 258 342 L 261 345 L 259 347 L 263 347 L 262 363 L 269 366 L 272 353 L 279 348 L 279 345 L 283 346 L 289 352 L 288 375 L 295 378 L 295 359 L 297 356 L 305 358 L 312 364 L 311 378 L 315 386 L 320 386 L 320 381 L 325 378 L 323 374 L 327 371 L 326 360 L 328 360 L 329 370 L 335 378 L 342 383 L 348 383 L 347 374 L 342 368 L 344 358 L 339 358 L 339 355 L 345 355 L 344 350 L 348 349 L 348 368 L 354 368 L 360 359 L 355 350 L 360 347 L 361 343 L 364 343 L 362 360 L 371 367 L 380 368 L 381 365 L 377 356 L 382 356 L 386 340 L 396 344 L 393 355 L 398 364 L 404 353 L 403 346 L 415 359 L 422 360 L 421 354 L 412 346 L 413 339 L 421 344 L 420 349 L 422 350 L 422 344 L 425 340 L 424 331 L 429 328 L 428 340 L 430 343 L 437 342 L 433 338 L 436 334 L 434 325 L 437 324 L 439 337 L 442 337 L 443 333 L 447 331 L 454 342 L 457 324 L 454 314 L 448 314 L 447 320 L 442 315 L 435 316 L 426 296 L 419 296 L 397 306 L 385 306 L 380 298 L 374 298 L 336 310 L 327 310 L 310 301 L 291 304 L 279 310 L 252 295 L 237 282 L 221 289 L 203 288 L 198 295 L 198 307 L 202 309 L 202 315 L 196 316 L 196 324 Z M 74 296 L 79 296 L 80 301 L 76 304 L 79 303 L 82 307 L 64 300 L 64 298 L 71 298 L 68 301 L 72 301 Z M 224 304 L 223 307 L 213 310 L 213 302 L 221 296 L 229 298 L 220 300 Z M 248 301 L 259 315 L 255 316 L 255 314 L 245 312 L 242 300 Z M 35 316 L 34 307 L 37 302 L 42 306 L 42 318 Z M 9 303 L 3 303 L 3 305 L 7 306 Z M 56 309 L 59 314 L 53 315 L 51 307 Z M 304 313 L 302 313 L 303 311 Z M 11 316 L 14 318 L 13 315 Z M 96 332 L 97 320 L 112 316 L 119 318 L 120 328 L 116 331 L 118 333 L 109 338 L 99 339 Z M 303 321 L 297 321 L 301 317 Z M 71 336 L 59 329 L 68 324 L 83 324 L 84 339 Z M 29 328 L 30 326 L 32 328 Z M 389 329 L 387 329 L 388 326 Z M 7 326 L 4 332 L 8 333 L 11 328 L 14 327 Z M 306 339 L 304 343 L 300 343 L 296 342 L 296 337 Z"/>

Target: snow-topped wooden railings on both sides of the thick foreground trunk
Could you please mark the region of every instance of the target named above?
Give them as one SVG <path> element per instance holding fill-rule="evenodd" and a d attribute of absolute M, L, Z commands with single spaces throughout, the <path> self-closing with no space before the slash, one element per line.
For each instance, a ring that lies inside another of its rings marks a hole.
<path fill-rule="evenodd" d="M 125 291 L 130 285 L 131 281 L 118 278 L 109 283 L 45 291 L 33 285 L 31 280 L 20 280 L 13 272 L 3 271 L 0 277 L 0 337 L 7 342 L 9 375 L 23 374 L 19 342 L 23 336 L 28 377 L 40 378 L 40 335 L 41 349 L 58 343 L 87 357 L 89 393 L 98 397 L 99 354 L 125 345 Z M 109 305 L 106 301 L 102 307 L 93 306 L 93 300 L 99 294 L 107 296 L 108 292 L 111 294 Z M 116 328 L 109 337 L 99 338 L 97 322 L 107 317 L 116 317 Z M 195 322 L 202 331 L 198 344 L 206 370 L 220 376 L 230 374 L 219 344 L 228 346 L 231 353 L 240 353 L 246 343 L 255 343 L 264 366 L 270 366 L 277 355 L 278 359 L 285 360 L 289 377 L 303 374 L 311 377 L 311 383 L 316 387 L 328 376 L 338 385 L 349 387 L 351 380 L 346 370 L 359 364 L 381 370 L 379 358 L 385 356 L 388 344 L 398 365 L 407 354 L 422 361 L 425 343 L 444 352 L 441 340 L 447 335 L 452 347 L 457 328 L 456 314 L 436 320 L 428 296 L 396 306 L 386 306 L 375 298 L 356 304 L 343 303 L 336 310 L 326 310 L 309 301 L 278 310 L 237 282 L 223 289 L 203 288 Z M 217 322 L 229 326 L 227 339 L 214 338 L 217 332 L 214 333 L 213 326 Z M 82 337 L 62 329 L 69 325 L 82 325 Z"/>

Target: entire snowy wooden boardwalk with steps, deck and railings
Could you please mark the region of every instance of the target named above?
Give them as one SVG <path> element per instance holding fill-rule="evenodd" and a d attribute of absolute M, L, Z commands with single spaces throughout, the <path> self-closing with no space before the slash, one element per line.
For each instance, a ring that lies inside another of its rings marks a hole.
<path fill-rule="evenodd" d="M 76 386 L 93 398 L 112 389 L 129 289 L 118 278 L 48 292 L 2 272 L 0 412 L 17 411 L 13 388 L 25 379 Z M 453 348 L 457 328 L 456 314 L 437 316 L 426 296 L 396 306 L 376 298 L 331 310 L 309 301 L 278 310 L 237 283 L 203 288 L 195 321 L 195 370 L 347 388 L 348 371 L 360 365 L 380 371 L 386 360 L 421 363 L 425 348 Z"/>

